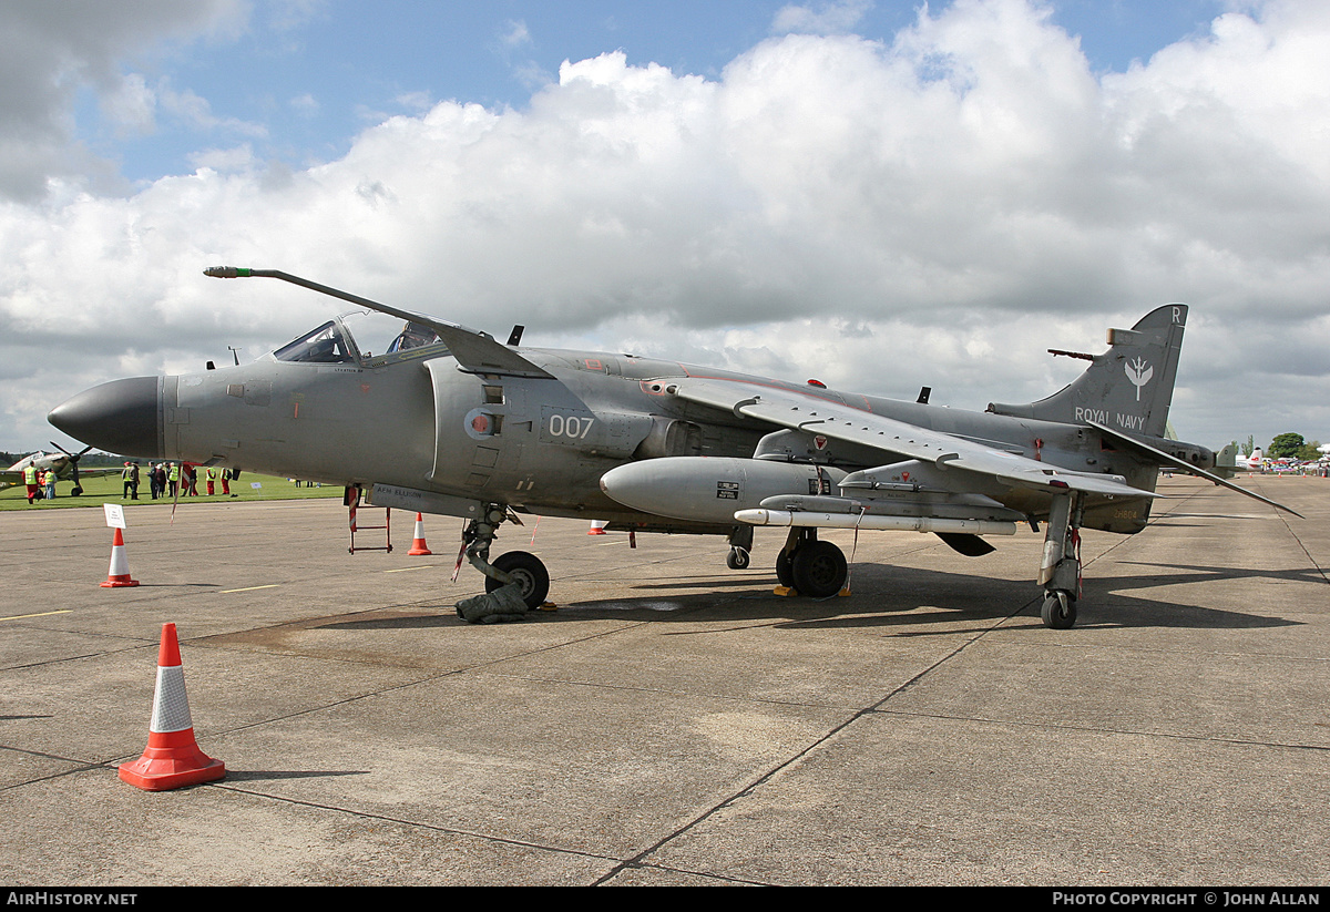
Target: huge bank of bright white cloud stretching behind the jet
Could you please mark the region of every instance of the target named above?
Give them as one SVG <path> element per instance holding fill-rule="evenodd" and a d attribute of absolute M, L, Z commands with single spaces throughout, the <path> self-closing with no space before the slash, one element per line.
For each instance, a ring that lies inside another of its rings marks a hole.
<path fill-rule="evenodd" d="M 567 62 L 524 110 L 380 118 L 303 171 L 239 148 L 126 198 L 56 182 L 0 206 L 0 448 L 45 440 L 45 409 L 94 382 L 338 308 L 201 275 L 221 262 L 525 323 L 529 344 L 978 408 L 1077 372 L 1045 348 L 1186 300 L 1184 437 L 1330 439 L 1327 100 L 1317 4 L 1096 76 L 1041 8 L 958 0 L 890 45 L 771 37 L 716 81 Z"/>

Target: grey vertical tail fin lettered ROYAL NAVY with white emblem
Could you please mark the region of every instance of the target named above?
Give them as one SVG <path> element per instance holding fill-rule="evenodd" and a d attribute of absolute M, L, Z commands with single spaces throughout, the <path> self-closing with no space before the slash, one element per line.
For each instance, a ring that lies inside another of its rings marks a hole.
<path fill-rule="evenodd" d="M 1108 351 L 1069 386 L 1027 405 L 990 403 L 996 415 L 1041 421 L 1096 421 L 1128 433 L 1164 436 L 1182 351 L 1186 304 L 1165 304 L 1130 330 L 1109 330 Z"/>

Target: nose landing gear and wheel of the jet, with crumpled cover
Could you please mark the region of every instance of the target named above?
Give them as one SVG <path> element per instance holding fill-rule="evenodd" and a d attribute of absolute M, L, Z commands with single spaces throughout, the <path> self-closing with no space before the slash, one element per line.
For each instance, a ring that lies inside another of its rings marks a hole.
<path fill-rule="evenodd" d="M 462 532 L 467 560 L 485 574 L 485 594 L 458 602 L 458 616 L 467 621 L 511 620 L 540 608 L 549 594 L 549 572 L 535 554 L 511 550 L 489 561 L 489 546 L 504 520 L 521 525 L 503 504 L 487 504 L 484 516 Z"/>

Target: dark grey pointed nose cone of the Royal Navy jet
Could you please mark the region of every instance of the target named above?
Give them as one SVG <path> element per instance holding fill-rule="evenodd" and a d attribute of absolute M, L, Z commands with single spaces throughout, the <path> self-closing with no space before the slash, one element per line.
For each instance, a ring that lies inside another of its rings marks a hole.
<path fill-rule="evenodd" d="M 47 420 L 70 437 L 122 456 L 161 459 L 160 378 L 132 376 L 84 390 Z"/>

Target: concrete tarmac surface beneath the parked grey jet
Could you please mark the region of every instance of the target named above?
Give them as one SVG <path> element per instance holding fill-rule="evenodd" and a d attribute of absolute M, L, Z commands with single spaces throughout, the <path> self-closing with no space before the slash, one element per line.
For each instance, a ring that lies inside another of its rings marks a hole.
<path fill-rule="evenodd" d="M 733 572 L 547 518 L 495 553 L 559 610 L 472 626 L 460 520 L 351 556 L 335 500 L 140 507 L 104 589 L 102 511 L 0 513 L 0 883 L 1326 885 L 1330 481 L 1238 483 L 1306 518 L 1165 479 L 1061 631 L 1028 529 L 823 533 L 854 594 L 811 601 L 778 532 Z M 227 775 L 145 792 L 168 621 Z"/>

